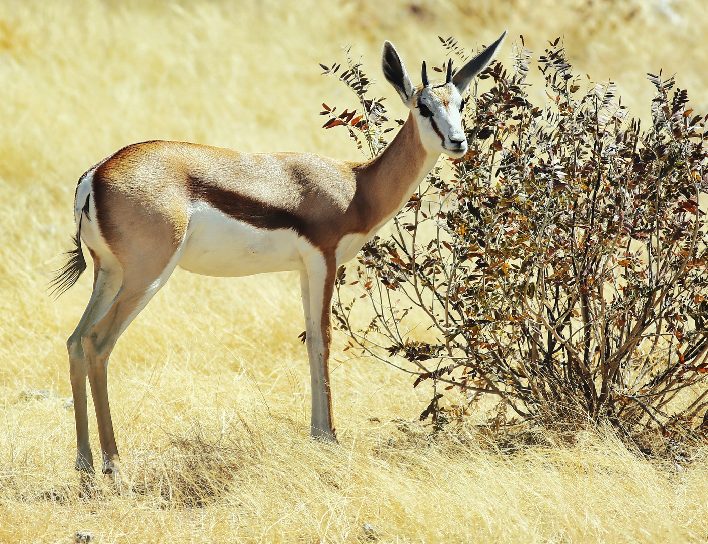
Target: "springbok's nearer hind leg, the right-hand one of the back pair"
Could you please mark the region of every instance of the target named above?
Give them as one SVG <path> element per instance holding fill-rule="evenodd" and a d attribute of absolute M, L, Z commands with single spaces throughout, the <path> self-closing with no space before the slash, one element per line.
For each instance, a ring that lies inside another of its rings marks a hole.
<path fill-rule="evenodd" d="M 157 276 L 148 274 L 141 268 L 125 270 L 118 295 L 101 318 L 81 334 L 81 346 L 86 356 L 89 384 L 91 384 L 91 397 L 93 397 L 93 406 L 96 408 L 103 473 L 115 477 L 115 483 L 121 492 L 124 491 L 124 485 L 120 470 L 120 455 L 115 443 L 113 421 L 108 404 L 108 357 L 123 331 L 167 281 L 176 268 L 181 253 L 181 249 L 176 251 Z"/>

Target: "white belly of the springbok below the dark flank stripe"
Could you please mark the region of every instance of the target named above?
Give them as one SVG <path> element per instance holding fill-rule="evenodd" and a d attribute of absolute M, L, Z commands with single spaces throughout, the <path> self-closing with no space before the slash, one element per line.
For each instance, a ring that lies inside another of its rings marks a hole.
<path fill-rule="evenodd" d="M 205 276 L 251 276 L 302 270 L 298 236 L 290 229 L 257 229 L 204 202 L 194 205 L 179 266 Z"/>

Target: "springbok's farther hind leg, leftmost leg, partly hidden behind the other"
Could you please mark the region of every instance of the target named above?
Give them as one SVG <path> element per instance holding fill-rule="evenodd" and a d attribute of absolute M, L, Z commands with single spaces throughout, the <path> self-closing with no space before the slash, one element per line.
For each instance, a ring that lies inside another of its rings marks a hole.
<path fill-rule="evenodd" d="M 98 259 L 93 260 L 93 292 L 84 315 L 81 316 L 76 329 L 69 336 L 69 368 L 72 378 L 72 398 L 74 399 L 74 422 L 76 424 L 76 462 L 74 467 L 79 470 L 84 483 L 88 483 L 93 474 L 93 456 L 89 443 L 89 418 L 86 412 L 86 358 L 81 347 L 81 334 L 86 327 L 101 316 L 113 300 L 120 288 L 122 273 L 120 267 L 113 270 L 101 268 Z"/>

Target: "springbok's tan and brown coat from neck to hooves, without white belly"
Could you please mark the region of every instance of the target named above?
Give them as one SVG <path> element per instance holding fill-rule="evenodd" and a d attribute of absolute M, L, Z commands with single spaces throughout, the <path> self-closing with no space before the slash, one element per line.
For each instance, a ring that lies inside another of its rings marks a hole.
<path fill-rule="evenodd" d="M 392 217 L 436 158 L 430 157 L 411 113 L 387 149 L 367 162 L 310 153 L 249 154 L 156 140 L 120 149 L 91 169 L 87 175 L 92 173 L 93 220 L 108 245 L 108 261 L 118 268 L 101 268 L 101 255 L 89 247 L 94 292 L 68 343 L 76 402 L 76 467 L 84 474 L 93 472 L 86 418 L 88 377 L 103 471 L 120 480 L 108 402 L 108 357 L 122 331 L 176 266 L 197 200 L 253 227 L 293 229 L 324 259 L 324 277 L 316 270 L 303 276 L 309 278 L 303 293 L 322 293 L 321 306 L 310 308 L 309 300 L 304 304 L 306 317 L 310 311 L 319 314 L 321 343 L 313 339 L 308 348 L 318 351 L 309 353 L 311 373 L 321 377 L 313 382 L 313 398 L 321 410 L 317 426 L 328 427 L 313 427 L 312 433 L 336 440 L 329 383 L 336 251 L 347 235 L 365 239 Z"/>

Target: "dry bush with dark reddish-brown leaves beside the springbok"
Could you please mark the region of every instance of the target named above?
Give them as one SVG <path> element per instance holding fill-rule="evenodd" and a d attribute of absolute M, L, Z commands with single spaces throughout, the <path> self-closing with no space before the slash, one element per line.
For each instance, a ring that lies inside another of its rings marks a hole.
<path fill-rule="evenodd" d="M 469 153 L 452 176 L 435 169 L 392 234 L 364 246 L 350 283 L 370 321 L 353 322 L 357 299 L 338 291 L 339 328 L 350 347 L 416 375 L 413 387 L 433 380 L 421 420 L 438 428 L 493 395 L 497 429 L 610 421 L 643 453 L 684 455 L 708 425 L 708 115 L 674 77 L 649 74 L 642 128 L 612 81 L 573 74 L 560 38 L 539 57 L 548 98 L 536 106 L 530 60 L 522 38 L 512 66 L 481 74 L 493 86 L 472 89 Z M 361 110 L 328 107 L 325 128 L 345 125 L 377 154 L 392 130 L 381 101 L 349 54 L 341 79 Z M 409 312 L 433 339 L 411 335 Z M 463 390 L 467 406 L 441 407 L 438 387 Z"/>

